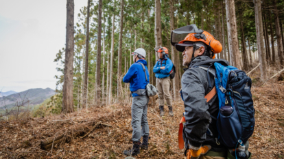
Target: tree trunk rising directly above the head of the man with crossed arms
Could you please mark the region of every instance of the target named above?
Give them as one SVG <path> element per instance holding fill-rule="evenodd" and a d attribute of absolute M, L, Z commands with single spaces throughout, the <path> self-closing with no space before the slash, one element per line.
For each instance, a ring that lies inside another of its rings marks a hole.
<path fill-rule="evenodd" d="M 161 1 L 155 0 L 155 48 L 158 49 L 163 45 L 162 43 L 162 27 L 161 27 Z M 158 61 L 158 54 L 156 54 L 156 61 Z"/>

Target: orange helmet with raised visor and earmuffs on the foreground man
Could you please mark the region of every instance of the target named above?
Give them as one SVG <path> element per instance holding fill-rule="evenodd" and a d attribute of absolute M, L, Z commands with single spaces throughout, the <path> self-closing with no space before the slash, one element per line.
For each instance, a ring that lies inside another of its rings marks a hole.
<path fill-rule="evenodd" d="M 183 52 L 185 46 L 205 46 L 209 47 L 212 53 L 220 53 L 222 44 L 214 38 L 211 33 L 198 29 L 196 25 L 187 25 L 171 31 L 171 45 L 176 50 Z M 215 56 L 213 57 L 213 59 Z"/>

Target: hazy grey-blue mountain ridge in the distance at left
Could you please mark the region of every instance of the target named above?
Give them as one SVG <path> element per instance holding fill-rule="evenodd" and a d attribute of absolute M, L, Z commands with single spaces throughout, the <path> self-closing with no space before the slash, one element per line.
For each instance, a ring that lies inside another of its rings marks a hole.
<path fill-rule="evenodd" d="M 7 92 L 5 92 L 7 93 Z M 12 93 L 8 96 L 0 97 L 0 107 L 7 106 L 11 108 L 18 103 L 25 103 L 27 105 L 35 105 L 40 104 L 45 101 L 47 98 L 54 96 L 56 92 L 53 89 L 46 88 L 36 88 L 36 89 L 28 89 L 27 91 L 21 91 L 19 93 Z"/>

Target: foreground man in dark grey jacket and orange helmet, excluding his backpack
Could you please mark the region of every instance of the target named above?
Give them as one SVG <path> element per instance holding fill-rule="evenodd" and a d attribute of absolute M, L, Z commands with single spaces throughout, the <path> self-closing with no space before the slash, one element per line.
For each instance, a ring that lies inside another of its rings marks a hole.
<path fill-rule="evenodd" d="M 183 66 L 188 67 L 181 79 L 181 96 L 185 105 L 182 130 L 185 155 L 191 159 L 226 158 L 226 147 L 217 141 L 217 126 L 213 118 L 217 118 L 219 109 L 217 94 L 208 102 L 204 98 L 213 90 L 214 76 L 202 69 L 210 68 L 214 62 L 228 66 L 228 61 L 215 59 L 214 54 L 221 52 L 222 45 L 213 35 L 198 29 L 196 25 L 172 31 L 171 44 L 182 52 Z"/>

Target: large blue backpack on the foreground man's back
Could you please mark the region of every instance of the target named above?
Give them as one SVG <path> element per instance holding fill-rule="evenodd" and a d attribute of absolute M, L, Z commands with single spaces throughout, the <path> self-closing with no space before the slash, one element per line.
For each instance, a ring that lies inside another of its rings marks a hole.
<path fill-rule="evenodd" d="M 211 65 L 213 66 L 213 65 Z M 217 119 L 218 141 L 228 148 L 246 143 L 255 128 L 255 109 L 250 88 L 252 81 L 244 71 L 215 62 L 214 68 L 197 66 L 215 76 L 219 100 Z M 215 73 L 215 74 L 214 74 Z M 210 85 L 210 82 L 209 82 Z"/>

